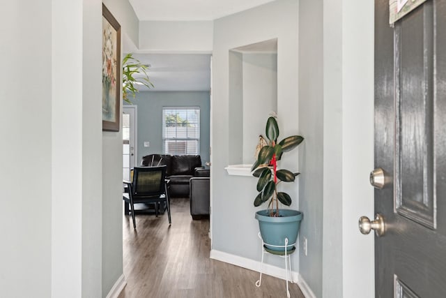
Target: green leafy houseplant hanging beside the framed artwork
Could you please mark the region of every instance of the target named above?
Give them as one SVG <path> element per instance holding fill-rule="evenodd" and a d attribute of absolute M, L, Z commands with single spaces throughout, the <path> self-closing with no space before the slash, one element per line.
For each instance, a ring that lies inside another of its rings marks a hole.
<path fill-rule="evenodd" d="M 133 57 L 132 53 L 125 55 L 123 59 L 123 100 L 125 102 L 132 103 L 129 95 L 134 98 L 136 93 L 139 92 L 135 85 L 141 84 L 147 88 L 154 87 L 148 78 L 147 70 L 148 66 L 141 64 L 138 59 Z M 142 75 L 142 77 L 138 75 Z"/>

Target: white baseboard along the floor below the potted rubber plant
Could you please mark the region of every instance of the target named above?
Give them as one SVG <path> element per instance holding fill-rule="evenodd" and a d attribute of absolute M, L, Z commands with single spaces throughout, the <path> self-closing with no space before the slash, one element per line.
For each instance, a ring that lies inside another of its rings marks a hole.
<path fill-rule="evenodd" d="M 252 271 L 260 271 L 261 262 L 259 261 L 243 258 L 238 255 L 231 255 L 230 253 L 224 253 L 222 251 L 216 251 L 215 249 L 210 251 L 210 258 L 213 260 L 219 260 L 232 265 L 236 265 L 238 267 L 246 268 Z M 263 263 L 263 274 L 286 279 L 284 268 L 272 266 L 265 263 Z M 292 271 L 291 276 L 293 276 L 293 281 L 297 283 L 300 290 L 302 290 L 302 294 L 305 296 L 305 298 L 316 298 L 312 289 L 309 288 L 308 284 L 304 281 L 304 279 L 298 272 Z"/>

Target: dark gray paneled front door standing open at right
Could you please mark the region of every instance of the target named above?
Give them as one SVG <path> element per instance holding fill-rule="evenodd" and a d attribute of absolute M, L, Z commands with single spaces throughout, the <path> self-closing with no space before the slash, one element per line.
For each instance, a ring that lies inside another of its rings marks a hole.
<path fill-rule="evenodd" d="M 375 14 L 376 297 L 446 297 L 446 1 Z"/>

